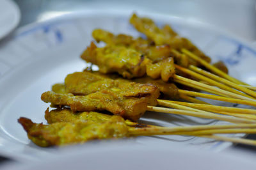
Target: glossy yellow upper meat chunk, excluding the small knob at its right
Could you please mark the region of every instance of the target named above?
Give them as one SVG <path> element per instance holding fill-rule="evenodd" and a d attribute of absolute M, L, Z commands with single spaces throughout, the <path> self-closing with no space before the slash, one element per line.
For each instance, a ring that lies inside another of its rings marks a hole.
<path fill-rule="evenodd" d="M 146 73 L 146 65 L 150 60 L 134 49 L 123 46 L 107 45 L 98 48 L 93 42 L 81 58 L 99 66 L 101 73 L 118 72 L 125 78 L 141 77 Z"/>

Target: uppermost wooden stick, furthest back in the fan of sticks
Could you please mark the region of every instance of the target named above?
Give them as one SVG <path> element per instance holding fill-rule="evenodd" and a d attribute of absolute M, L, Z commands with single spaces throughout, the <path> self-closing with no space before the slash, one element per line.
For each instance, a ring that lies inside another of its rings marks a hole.
<path fill-rule="evenodd" d="M 181 50 L 184 54 L 186 54 L 187 56 L 189 56 L 190 58 L 195 59 L 196 61 L 198 61 L 200 64 L 204 65 L 206 68 L 208 68 L 209 70 L 211 70 L 212 72 L 216 73 L 217 75 L 220 75 L 221 77 L 224 77 L 225 79 L 228 79 L 229 81 L 235 82 L 236 84 L 244 84 L 244 85 L 248 85 L 244 82 L 241 82 L 237 79 L 235 79 L 234 77 L 231 77 L 230 75 L 228 75 L 225 72 L 222 72 L 221 70 L 219 70 L 218 68 L 216 68 L 215 66 L 207 63 L 204 59 L 199 58 L 198 56 L 196 56 L 195 54 L 193 54 L 192 52 L 190 52 L 189 50 L 186 49 L 182 49 Z"/>

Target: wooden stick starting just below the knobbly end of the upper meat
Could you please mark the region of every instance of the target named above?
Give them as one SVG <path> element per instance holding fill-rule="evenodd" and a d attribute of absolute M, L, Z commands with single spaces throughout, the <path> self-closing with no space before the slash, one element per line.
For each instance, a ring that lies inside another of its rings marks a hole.
<path fill-rule="evenodd" d="M 179 81 L 179 83 L 182 82 L 182 84 L 184 84 L 186 86 L 191 86 L 191 84 L 193 84 L 194 87 L 196 86 L 196 87 L 202 87 L 202 88 L 205 88 L 205 89 L 209 89 L 210 91 L 214 91 L 214 93 L 215 92 L 216 93 L 221 93 L 222 96 L 224 95 L 224 96 L 233 97 L 233 98 L 239 98 L 239 99 L 244 99 L 244 100 L 256 101 L 255 99 L 244 97 L 242 95 L 237 95 L 236 93 L 232 93 L 232 92 L 229 92 L 229 91 L 225 91 L 223 89 L 215 88 L 215 87 L 209 86 L 207 84 L 203 84 L 201 82 L 196 82 L 196 81 L 193 81 L 191 79 L 187 79 L 185 77 L 181 77 L 179 75 L 173 75 L 173 80 L 175 82 Z"/>

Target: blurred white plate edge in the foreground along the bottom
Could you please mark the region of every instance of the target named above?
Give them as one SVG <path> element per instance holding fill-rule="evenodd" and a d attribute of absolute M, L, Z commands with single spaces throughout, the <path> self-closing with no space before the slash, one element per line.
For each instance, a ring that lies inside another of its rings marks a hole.
<path fill-rule="evenodd" d="M 114 146 L 116 145 L 116 146 Z M 196 169 L 237 170 L 255 169 L 255 155 L 241 151 L 212 153 L 202 150 L 179 150 L 165 146 L 133 146 L 129 143 L 108 143 L 104 146 L 90 144 L 60 151 L 55 158 L 47 158 L 32 164 L 14 164 L 2 170 L 50 170 L 50 169 Z"/>

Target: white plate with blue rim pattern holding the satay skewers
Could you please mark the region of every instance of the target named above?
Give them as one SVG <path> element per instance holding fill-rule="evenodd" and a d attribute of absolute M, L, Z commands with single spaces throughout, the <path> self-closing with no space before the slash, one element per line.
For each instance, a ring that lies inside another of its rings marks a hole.
<path fill-rule="evenodd" d="M 159 25 L 171 24 L 180 35 L 193 40 L 214 61 L 225 61 L 231 75 L 256 84 L 256 70 L 253 69 L 256 52 L 246 43 L 227 33 L 189 20 L 166 15 L 139 14 L 152 17 Z M 90 44 L 93 29 L 100 27 L 113 33 L 139 36 L 140 34 L 129 25 L 129 15 L 131 12 L 102 11 L 66 15 L 23 27 L 17 31 L 15 38 L 0 47 L 0 151 L 15 158 L 29 160 L 58 154 L 58 150 L 54 148 L 39 148 L 30 143 L 17 119 L 25 116 L 38 123 L 45 123 L 44 111 L 49 104 L 40 100 L 41 93 L 51 89 L 51 85 L 56 82 L 63 82 L 68 73 L 83 70 L 86 63 L 79 59 L 79 55 L 86 45 Z M 142 120 L 165 126 L 225 123 L 152 112 L 145 114 Z M 242 137 L 243 134 L 227 136 Z M 175 145 L 183 149 L 193 146 L 213 151 L 220 151 L 231 145 L 179 135 L 138 137 L 131 141 L 143 146 L 161 145 L 170 148 Z"/>

